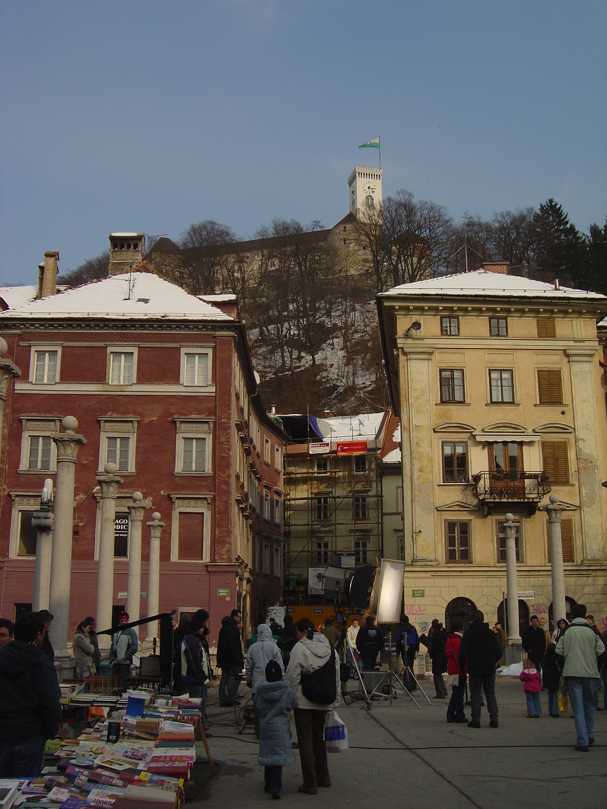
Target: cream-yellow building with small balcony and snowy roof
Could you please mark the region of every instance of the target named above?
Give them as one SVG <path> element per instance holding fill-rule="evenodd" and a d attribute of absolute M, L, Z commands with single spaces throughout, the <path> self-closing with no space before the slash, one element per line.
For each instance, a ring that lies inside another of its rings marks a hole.
<path fill-rule="evenodd" d="M 519 527 L 522 624 L 552 618 L 541 510 L 552 490 L 566 506 L 568 607 L 587 604 L 605 628 L 607 417 L 596 321 L 607 299 L 486 265 L 395 287 L 378 296 L 378 310 L 401 415 L 412 620 L 423 628 L 477 607 L 495 622 L 508 511 Z"/>

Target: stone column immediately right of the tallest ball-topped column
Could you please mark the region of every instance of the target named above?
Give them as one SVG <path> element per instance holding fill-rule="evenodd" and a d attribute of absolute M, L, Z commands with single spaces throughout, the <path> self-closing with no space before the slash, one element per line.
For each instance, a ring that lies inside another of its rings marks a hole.
<path fill-rule="evenodd" d="M 101 489 L 101 519 L 99 532 L 99 565 L 97 567 L 97 614 L 100 630 L 112 626 L 112 603 L 114 599 L 114 524 L 116 523 L 116 498 L 122 478 L 116 477 L 116 464 L 104 466 L 104 475 L 97 476 Z M 100 650 L 112 645 L 111 635 L 98 636 Z"/>

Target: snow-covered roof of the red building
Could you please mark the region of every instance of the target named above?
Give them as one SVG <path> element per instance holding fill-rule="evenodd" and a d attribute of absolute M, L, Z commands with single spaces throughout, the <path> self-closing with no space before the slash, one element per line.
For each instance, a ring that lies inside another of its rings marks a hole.
<path fill-rule="evenodd" d="M 26 289 L 35 290 L 35 294 L 19 291 Z M 234 320 L 154 273 L 112 275 L 41 300 L 32 299 L 38 292 L 37 287 L 5 287 L 4 290 L 10 308 L 2 312 L 2 320 L 25 317 Z M 4 297 L 2 290 L 0 297 Z"/>

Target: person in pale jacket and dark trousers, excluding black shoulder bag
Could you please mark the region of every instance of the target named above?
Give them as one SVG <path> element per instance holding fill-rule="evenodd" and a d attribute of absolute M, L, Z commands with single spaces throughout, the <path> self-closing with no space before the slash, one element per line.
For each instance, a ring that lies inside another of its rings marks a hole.
<path fill-rule="evenodd" d="M 339 705 L 339 658 L 324 635 L 315 633 L 310 622 L 302 619 L 295 624 L 298 642 L 291 651 L 287 666 L 287 680 L 295 693 L 295 730 L 299 745 L 299 759 L 304 783 L 299 792 L 316 794 L 317 786 L 331 786 L 327 750 L 325 748 L 325 718 L 327 711 Z M 302 674 L 311 674 L 335 655 L 335 701 L 331 705 L 319 705 L 304 697 L 301 688 Z"/>

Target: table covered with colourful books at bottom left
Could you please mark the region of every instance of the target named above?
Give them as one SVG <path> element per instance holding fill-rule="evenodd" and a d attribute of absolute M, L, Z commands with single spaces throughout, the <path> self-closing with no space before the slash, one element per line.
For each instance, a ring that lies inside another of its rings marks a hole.
<path fill-rule="evenodd" d="M 196 761 L 195 731 L 214 773 L 200 700 L 79 693 L 69 705 L 99 721 L 77 739 L 50 739 L 40 777 L 0 781 L 2 809 L 179 809 Z"/>

